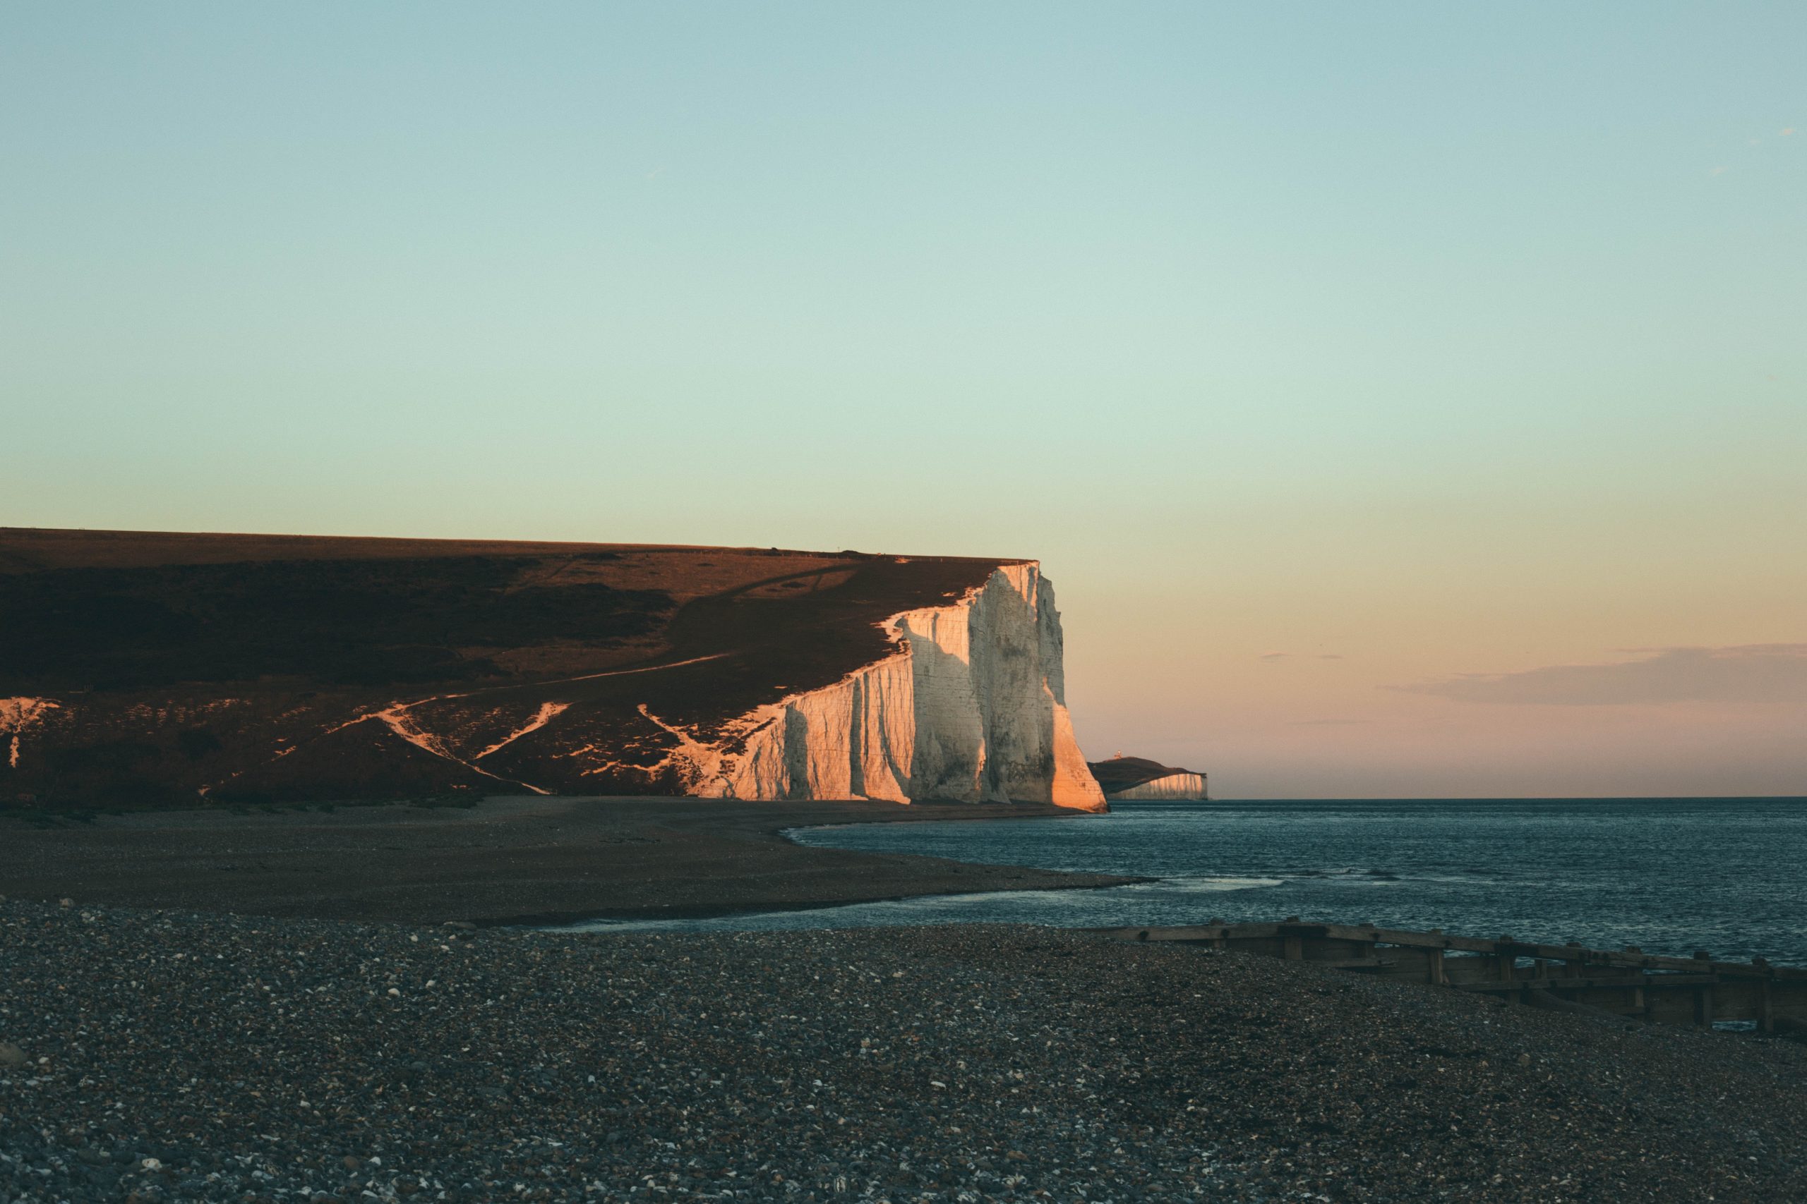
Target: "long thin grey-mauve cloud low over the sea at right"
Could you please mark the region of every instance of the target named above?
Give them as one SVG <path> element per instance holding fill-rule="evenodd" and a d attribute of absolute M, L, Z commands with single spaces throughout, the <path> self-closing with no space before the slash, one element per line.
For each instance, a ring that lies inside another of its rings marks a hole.
<path fill-rule="evenodd" d="M 1807 644 L 1632 648 L 1637 661 L 1549 664 L 1520 673 L 1458 673 L 1391 686 L 1455 702 L 1531 706 L 1668 706 L 1787 702 L 1807 706 Z"/>

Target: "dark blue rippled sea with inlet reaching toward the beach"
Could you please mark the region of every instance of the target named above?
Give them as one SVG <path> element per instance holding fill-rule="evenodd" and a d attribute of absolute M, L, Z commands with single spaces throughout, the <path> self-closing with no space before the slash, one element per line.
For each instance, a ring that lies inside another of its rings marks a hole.
<path fill-rule="evenodd" d="M 1117 803 L 1108 816 L 799 829 L 804 845 L 1153 877 L 587 930 L 1209 919 L 1807 966 L 1807 798 Z"/>

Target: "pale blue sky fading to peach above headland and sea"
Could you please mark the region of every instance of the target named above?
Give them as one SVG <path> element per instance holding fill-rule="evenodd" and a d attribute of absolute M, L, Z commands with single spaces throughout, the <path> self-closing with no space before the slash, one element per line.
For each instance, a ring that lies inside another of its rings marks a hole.
<path fill-rule="evenodd" d="M 1807 5 L 0 4 L 0 522 L 1037 556 L 1223 796 L 1807 794 Z"/>

